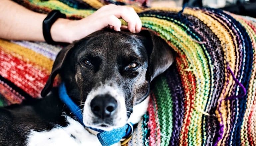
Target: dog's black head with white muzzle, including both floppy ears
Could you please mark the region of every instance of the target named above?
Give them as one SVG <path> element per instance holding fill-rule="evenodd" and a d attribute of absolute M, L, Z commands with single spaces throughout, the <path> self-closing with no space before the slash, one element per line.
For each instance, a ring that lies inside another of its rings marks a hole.
<path fill-rule="evenodd" d="M 60 51 L 41 95 L 60 74 L 68 95 L 83 108 L 84 124 L 111 130 L 145 113 L 147 106 L 139 105 L 148 83 L 172 62 L 170 46 L 150 31 L 98 31 Z"/>

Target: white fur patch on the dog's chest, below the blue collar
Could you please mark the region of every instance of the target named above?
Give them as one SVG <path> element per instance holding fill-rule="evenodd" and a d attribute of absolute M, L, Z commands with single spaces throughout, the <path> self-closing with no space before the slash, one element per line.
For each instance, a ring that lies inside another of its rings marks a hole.
<path fill-rule="evenodd" d="M 66 127 L 42 132 L 31 130 L 28 146 L 101 146 L 97 136 L 89 133 L 78 121 L 71 117 L 67 117 L 67 121 Z"/>

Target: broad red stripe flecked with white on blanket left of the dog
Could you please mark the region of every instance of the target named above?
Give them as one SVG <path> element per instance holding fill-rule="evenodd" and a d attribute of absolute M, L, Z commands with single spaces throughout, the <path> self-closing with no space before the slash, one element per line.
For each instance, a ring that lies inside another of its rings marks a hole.
<path fill-rule="evenodd" d="M 0 75 L 32 97 L 38 97 L 49 75 L 34 66 L 0 50 Z"/>

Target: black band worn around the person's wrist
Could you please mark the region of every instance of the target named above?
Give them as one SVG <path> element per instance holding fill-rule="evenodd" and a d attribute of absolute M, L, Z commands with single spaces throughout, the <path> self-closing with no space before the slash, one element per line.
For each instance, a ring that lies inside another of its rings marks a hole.
<path fill-rule="evenodd" d="M 53 10 L 43 21 L 43 35 L 45 41 L 49 44 L 57 44 L 57 42 L 55 42 L 51 36 L 51 27 L 59 18 L 66 18 L 66 15 L 61 13 L 59 10 Z"/>

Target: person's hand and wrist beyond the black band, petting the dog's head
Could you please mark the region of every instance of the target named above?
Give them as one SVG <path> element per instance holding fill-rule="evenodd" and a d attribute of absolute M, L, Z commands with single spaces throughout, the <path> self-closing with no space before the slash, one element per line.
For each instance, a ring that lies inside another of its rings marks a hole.
<path fill-rule="evenodd" d="M 81 20 L 58 19 L 52 26 L 51 34 L 54 41 L 71 43 L 106 27 L 121 31 L 120 18 L 127 22 L 130 32 L 140 32 L 141 20 L 133 8 L 109 4 Z"/>

